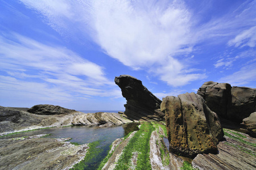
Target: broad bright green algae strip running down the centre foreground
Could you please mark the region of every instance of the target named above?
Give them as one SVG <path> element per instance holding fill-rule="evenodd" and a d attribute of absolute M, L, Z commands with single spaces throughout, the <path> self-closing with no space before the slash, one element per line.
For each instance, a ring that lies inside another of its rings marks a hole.
<path fill-rule="evenodd" d="M 133 152 L 138 152 L 137 167 L 135 169 L 151 169 L 150 164 L 150 136 L 154 127 L 151 122 L 143 122 L 140 130 L 135 133 L 123 150 L 115 169 L 129 169 Z"/>

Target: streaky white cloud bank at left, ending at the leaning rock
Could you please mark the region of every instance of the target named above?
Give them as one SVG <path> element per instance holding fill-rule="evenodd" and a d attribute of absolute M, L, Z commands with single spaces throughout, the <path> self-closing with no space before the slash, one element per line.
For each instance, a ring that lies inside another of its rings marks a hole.
<path fill-rule="evenodd" d="M 70 101 L 73 95 L 121 97 L 114 82 L 106 78 L 104 67 L 63 46 L 9 33 L 0 35 L 0 56 L 0 71 L 6 73 L 1 76 L 1 91 L 9 88 L 51 101 Z"/>

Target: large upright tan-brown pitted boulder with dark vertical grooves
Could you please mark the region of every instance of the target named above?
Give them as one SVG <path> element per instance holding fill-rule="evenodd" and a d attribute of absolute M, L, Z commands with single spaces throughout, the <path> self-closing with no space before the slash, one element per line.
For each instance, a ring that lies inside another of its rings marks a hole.
<path fill-rule="evenodd" d="M 217 152 L 224 133 L 217 114 L 210 111 L 203 97 L 195 93 L 167 96 L 161 111 L 166 114 L 171 152 L 188 157 Z"/>

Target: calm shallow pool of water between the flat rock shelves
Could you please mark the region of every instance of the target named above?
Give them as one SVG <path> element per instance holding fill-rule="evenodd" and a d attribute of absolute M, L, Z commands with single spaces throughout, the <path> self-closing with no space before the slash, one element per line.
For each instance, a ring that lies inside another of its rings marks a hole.
<path fill-rule="evenodd" d="M 121 126 L 112 126 L 108 128 L 89 127 L 89 126 L 68 126 L 64 128 L 49 128 L 39 129 L 32 131 L 25 131 L 18 134 L 8 135 L 3 138 L 16 138 L 24 137 L 36 134 L 51 134 L 47 138 L 72 138 L 68 142 L 77 142 L 79 144 L 92 143 L 94 141 L 101 141 L 100 146 L 102 152 L 100 156 L 95 159 L 95 162 L 91 164 L 87 169 L 97 169 L 101 160 L 108 155 L 109 146 L 117 138 L 122 138 L 129 134 L 131 131 L 138 130 L 139 123 L 131 123 Z"/>

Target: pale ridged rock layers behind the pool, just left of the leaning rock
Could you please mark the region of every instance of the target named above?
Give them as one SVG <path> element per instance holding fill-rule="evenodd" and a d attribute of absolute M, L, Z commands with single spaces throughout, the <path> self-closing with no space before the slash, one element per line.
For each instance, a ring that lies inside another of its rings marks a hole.
<path fill-rule="evenodd" d="M 73 118 L 73 125 L 98 125 L 98 126 L 112 126 L 121 125 L 133 122 L 119 113 L 88 113 L 88 114 L 78 114 Z"/>

